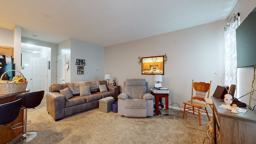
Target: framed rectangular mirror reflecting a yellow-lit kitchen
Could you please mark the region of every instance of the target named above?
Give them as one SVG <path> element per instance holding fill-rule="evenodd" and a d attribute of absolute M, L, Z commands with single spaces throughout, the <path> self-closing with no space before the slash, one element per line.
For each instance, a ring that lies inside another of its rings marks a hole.
<path fill-rule="evenodd" d="M 141 58 L 141 74 L 162 74 L 164 75 L 164 56 L 151 56 Z"/>

